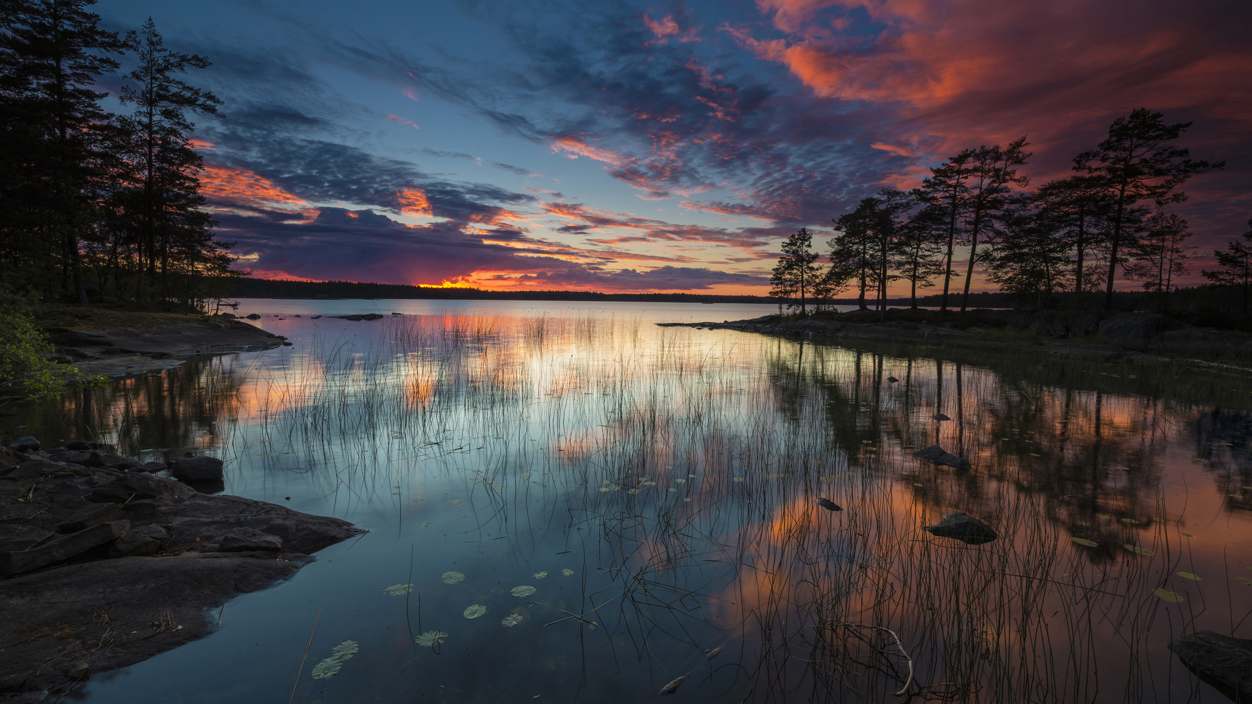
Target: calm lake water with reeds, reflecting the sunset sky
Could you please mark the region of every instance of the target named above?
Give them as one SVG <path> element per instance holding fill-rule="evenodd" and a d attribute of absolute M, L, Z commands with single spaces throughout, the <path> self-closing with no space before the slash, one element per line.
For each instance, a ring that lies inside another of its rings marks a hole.
<path fill-rule="evenodd" d="M 4 418 L 372 531 L 71 698 L 288 701 L 321 611 L 298 701 L 1224 700 L 1164 644 L 1252 634 L 1252 388 L 652 324 L 771 309 L 244 301 L 294 346 Z"/>

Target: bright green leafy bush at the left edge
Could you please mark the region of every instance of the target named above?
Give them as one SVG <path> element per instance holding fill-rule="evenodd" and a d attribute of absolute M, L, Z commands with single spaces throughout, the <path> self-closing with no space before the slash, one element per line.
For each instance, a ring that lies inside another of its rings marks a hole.
<path fill-rule="evenodd" d="M 51 343 L 35 327 L 30 299 L 0 291 L 0 391 L 19 391 L 39 400 L 60 396 L 66 383 L 104 383 L 103 376 L 49 360 L 53 351 Z"/>

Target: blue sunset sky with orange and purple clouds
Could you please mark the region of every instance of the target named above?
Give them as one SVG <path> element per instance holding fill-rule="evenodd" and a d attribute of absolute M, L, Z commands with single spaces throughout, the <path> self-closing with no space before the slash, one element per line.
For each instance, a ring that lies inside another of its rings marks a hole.
<path fill-rule="evenodd" d="M 1227 162 L 1173 208 L 1201 257 L 1183 281 L 1252 218 L 1246 0 L 94 11 L 119 31 L 150 16 L 213 63 L 185 76 L 224 101 L 194 118 L 203 194 L 237 267 L 263 278 L 764 294 L 801 227 L 825 251 L 860 198 L 1022 135 L 1030 185 L 1063 178 L 1141 106 L 1193 122 L 1179 143 Z"/>

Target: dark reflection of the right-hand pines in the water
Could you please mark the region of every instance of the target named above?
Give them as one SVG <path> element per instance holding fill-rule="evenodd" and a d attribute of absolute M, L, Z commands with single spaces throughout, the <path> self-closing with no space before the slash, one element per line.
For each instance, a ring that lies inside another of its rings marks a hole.
<path fill-rule="evenodd" d="M 826 433 L 831 451 L 855 458 L 865 445 L 898 443 L 905 451 L 898 466 L 866 470 L 895 472 L 915 496 L 944 511 L 998 515 L 1002 497 L 990 482 L 1042 497 L 1053 521 L 1112 546 L 1090 551 L 1097 560 L 1113 559 L 1116 546 L 1151 525 L 1163 453 L 1181 423 L 1198 413 L 1189 405 L 1090 390 L 1089 382 L 1035 362 L 1025 363 L 1035 375 L 1013 375 L 939 357 L 800 342 L 779 344 L 766 366 L 772 401 L 789 422 L 813 423 L 806 397 L 821 400 L 824 427 L 815 431 Z M 950 420 L 933 421 L 934 413 Z M 1226 472 L 1223 491 L 1246 495 L 1252 432 L 1241 423 L 1252 428 L 1252 421 L 1229 412 L 1203 417 L 1211 435 L 1223 433 L 1201 441 L 1208 452 L 1242 452 L 1238 472 L 1218 470 Z M 934 443 L 967 457 L 975 471 L 908 456 Z"/>

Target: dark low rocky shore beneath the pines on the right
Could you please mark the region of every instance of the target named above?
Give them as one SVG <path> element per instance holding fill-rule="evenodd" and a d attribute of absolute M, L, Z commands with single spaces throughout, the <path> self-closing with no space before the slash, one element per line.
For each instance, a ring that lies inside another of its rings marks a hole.
<path fill-rule="evenodd" d="M 1186 358 L 1214 362 L 1232 370 L 1252 370 L 1246 365 L 1252 360 L 1252 334 L 1191 327 L 1156 313 L 980 309 L 943 317 L 935 311 L 889 309 L 885 322 L 879 321 L 878 312 L 854 311 L 799 319 L 762 316 L 720 323 L 657 324 L 739 329 L 805 339 L 926 342 L 1033 352 L 1039 352 L 1042 347 L 1049 353 L 1072 358 L 1121 362 Z"/>

